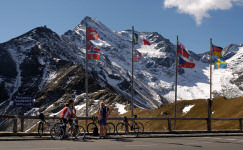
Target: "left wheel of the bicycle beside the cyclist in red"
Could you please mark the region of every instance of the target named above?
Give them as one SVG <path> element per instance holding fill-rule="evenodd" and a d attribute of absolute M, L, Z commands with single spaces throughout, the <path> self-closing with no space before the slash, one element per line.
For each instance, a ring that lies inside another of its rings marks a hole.
<path fill-rule="evenodd" d="M 64 129 L 62 123 L 56 123 L 50 131 L 51 138 L 54 140 L 61 140 L 64 137 Z"/>

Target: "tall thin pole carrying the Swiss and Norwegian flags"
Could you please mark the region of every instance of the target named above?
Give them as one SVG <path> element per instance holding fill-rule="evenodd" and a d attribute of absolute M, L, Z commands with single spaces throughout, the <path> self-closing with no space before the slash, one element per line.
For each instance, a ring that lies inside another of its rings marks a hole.
<path fill-rule="evenodd" d="M 89 82 L 88 82 L 88 38 L 87 38 L 87 35 L 88 35 L 88 32 L 87 32 L 87 23 L 86 23 L 86 69 L 85 69 L 85 91 L 86 91 L 86 117 L 88 117 L 89 113 L 88 113 L 88 108 L 89 108 L 89 96 L 88 96 L 88 93 L 89 93 Z M 88 120 L 86 119 L 86 126 L 88 124 Z"/>

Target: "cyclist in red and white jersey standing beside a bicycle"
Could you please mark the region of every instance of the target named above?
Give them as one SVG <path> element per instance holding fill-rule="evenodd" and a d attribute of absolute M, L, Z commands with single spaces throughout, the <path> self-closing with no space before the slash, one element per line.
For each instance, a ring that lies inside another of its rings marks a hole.
<path fill-rule="evenodd" d="M 62 114 L 60 118 L 63 123 L 64 133 L 66 133 L 66 124 L 68 123 L 68 120 L 71 119 L 73 116 L 76 117 L 76 115 L 69 108 L 72 105 L 73 105 L 73 100 L 69 100 L 68 103 L 65 104 L 65 107 L 62 109 Z"/>

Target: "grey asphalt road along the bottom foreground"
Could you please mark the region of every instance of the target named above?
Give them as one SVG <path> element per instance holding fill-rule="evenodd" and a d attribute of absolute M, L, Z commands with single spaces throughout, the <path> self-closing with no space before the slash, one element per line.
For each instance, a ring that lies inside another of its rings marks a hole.
<path fill-rule="evenodd" d="M 242 150 L 243 136 L 0 141 L 0 150 Z"/>

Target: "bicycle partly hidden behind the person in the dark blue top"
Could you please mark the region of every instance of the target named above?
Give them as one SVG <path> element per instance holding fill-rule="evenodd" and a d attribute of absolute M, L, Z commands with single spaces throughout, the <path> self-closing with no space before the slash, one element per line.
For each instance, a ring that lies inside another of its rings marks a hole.
<path fill-rule="evenodd" d="M 91 122 L 87 125 L 87 133 L 92 133 L 92 131 L 94 133 L 94 130 L 98 128 L 97 125 L 96 125 L 96 123 L 99 124 L 98 117 L 92 116 L 91 120 L 93 122 Z M 107 134 L 114 134 L 115 133 L 115 125 L 113 123 L 111 123 L 111 122 L 107 123 L 106 128 L 107 128 Z"/>

